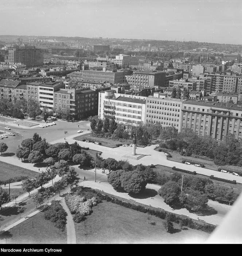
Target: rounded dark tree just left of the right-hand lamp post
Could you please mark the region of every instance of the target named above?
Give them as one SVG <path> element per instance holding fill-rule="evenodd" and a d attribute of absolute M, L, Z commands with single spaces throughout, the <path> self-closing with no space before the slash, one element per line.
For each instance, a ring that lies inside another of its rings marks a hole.
<path fill-rule="evenodd" d="M 180 187 L 174 181 L 166 182 L 158 191 L 158 194 L 164 198 L 165 203 L 171 204 L 178 201 Z"/>

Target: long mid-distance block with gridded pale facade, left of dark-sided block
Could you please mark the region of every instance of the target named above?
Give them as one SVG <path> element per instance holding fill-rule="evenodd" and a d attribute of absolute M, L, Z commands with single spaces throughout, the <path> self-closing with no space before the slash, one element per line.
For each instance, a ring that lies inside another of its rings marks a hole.
<path fill-rule="evenodd" d="M 131 70 L 117 71 L 117 69 L 106 69 L 106 71 L 83 70 L 82 79 L 86 81 L 123 83 L 126 82 L 125 76 L 129 75 L 131 72 Z"/>

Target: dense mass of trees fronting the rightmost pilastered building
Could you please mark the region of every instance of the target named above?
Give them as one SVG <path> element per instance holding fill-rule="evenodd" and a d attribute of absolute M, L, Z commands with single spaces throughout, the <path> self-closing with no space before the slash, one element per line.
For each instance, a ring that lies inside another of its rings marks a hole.
<path fill-rule="evenodd" d="M 225 136 L 219 144 L 209 136 L 198 136 L 192 129 L 184 129 L 178 133 L 174 127 L 164 127 L 159 139 L 163 140 L 160 147 L 180 151 L 186 156 L 199 155 L 214 159 L 218 165 L 238 165 L 242 166 L 241 143 L 235 139 L 233 134 Z"/>

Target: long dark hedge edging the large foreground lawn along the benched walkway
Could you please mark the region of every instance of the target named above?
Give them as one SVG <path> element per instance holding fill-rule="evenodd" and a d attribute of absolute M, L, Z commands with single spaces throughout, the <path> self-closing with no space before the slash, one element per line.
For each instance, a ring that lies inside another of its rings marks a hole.
<path fill-rule="evenodd" d="M 216 228 L 216 226 L 214 226 L 214 225 L 202 224 L 202 223 L 200 224 L 200 223 L 197 223 L 197 222 L 193 221 L 191 218 L 183 217 L 183 216 L 180 216 L 180 215 L 174 214 L 174 213 L 168 213 L 165 210 L 155 210 L 155 209 L 151 209 L 151 208 L 148 208 L 148 207 L 144 207 L 142 205 L 136 205 L 134 203 L 129 203 L 129 202 L 126 202 L 126 201 L 122 201 L 120 199 L 110 197 L 109 195 L 101 194 L 99 192 L 95 192 L 95 193 L 102 200 L 106 200 L 108 202 L 116 203 L 117 205 L 121 205 L 121 206 L 124 206 L 126 208 L 136 210 L 136 211 L 139 211 L 139 212 L 148 213 L 148 214 L 154 215 L 158 218 L 161 218 L 162 220 L 164 220 L 167 216 L 169 216 L 171 218 L 172 222 L 179 223 L 183 226 L 187 226 L 187 227 L 192 228 L 192 229 L 202 230 L 204 232 L 211 233 Z"/>

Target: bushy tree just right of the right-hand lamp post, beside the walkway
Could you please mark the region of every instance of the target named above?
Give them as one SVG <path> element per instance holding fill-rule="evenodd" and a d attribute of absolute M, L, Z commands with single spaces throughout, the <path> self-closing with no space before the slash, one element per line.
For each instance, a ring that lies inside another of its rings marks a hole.
<path fill-rule="evenodd" d="M 196 212 L 198 210 L 206 209 L 207 207 L 207 195 L 202 194 L 200 191 L 193 189 L 186 189 L 186 198 L 183 199 L 183 205 Z"/>

